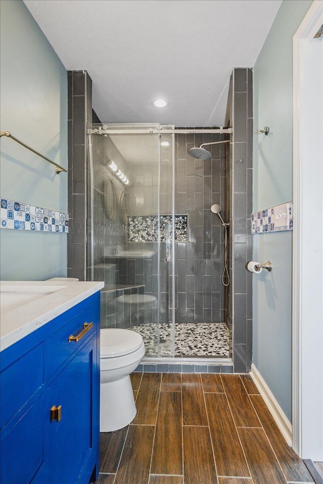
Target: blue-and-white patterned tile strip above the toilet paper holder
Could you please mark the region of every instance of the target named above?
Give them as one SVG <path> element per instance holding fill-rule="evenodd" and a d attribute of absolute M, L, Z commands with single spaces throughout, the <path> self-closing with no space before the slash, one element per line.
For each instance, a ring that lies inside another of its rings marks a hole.
<path fill-rule="evenodd" d="M 251 233 L 293 230 L 293 202 L 253 213 L 251 224 Z"/>

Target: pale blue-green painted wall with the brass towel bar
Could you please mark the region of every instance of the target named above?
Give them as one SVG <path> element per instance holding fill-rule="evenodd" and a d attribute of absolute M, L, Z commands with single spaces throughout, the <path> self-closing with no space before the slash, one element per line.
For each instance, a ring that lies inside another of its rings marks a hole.
<path fill-rule="evenodd" d="M 67 73 L 21 0 L 1 2 L 1 130 L 67 167 Z M 67 212 L 67 173 L 1 139 L 3 198 Z M 67 235 L 2 229 L 1 279 L 65 276 Z"/>

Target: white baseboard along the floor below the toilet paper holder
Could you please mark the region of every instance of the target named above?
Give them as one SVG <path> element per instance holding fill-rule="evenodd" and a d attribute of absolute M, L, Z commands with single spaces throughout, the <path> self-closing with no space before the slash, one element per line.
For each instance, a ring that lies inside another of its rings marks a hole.
<path fill-rule="evenodd" d="M 283 434 L 286 442 L 288 445 L 292 445 L 292 440 L 293 440 L 293 430 L 292 430 L 292 424 L 288 420 L 287 416 L 283 412 L 282 408 L 280 407 L 278 401 L 272 394 L 270 388 L 267 386 L 266 382 L 254 366 L 254 364 L 251 365 L 251 372 L 250 376 L 252 380 L 254 381 L 254 384 L 256 385 L 257 389 L 259 390 L 260 395 L 264 399 L 265 404 L 267 405 L 269 411 L 273 415 L 273 418 L 275 422 L 278 425 L 279 430 Z"/>

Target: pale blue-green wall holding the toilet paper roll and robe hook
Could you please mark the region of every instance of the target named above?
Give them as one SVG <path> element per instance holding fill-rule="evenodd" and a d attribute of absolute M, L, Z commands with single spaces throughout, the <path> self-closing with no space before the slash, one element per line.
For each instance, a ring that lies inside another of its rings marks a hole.
<path fill-rule="evenodd" d="M 292 200 L 292 37 L 312 0 L 284 0 L 254 66 L 253 211 Z M 292 233 L 254 235 L 253 362 L 291 420 Z"/>

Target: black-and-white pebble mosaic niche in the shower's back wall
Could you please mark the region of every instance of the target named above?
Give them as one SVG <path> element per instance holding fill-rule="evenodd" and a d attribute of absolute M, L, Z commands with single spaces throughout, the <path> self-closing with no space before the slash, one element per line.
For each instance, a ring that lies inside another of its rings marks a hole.
<path fill-rule="evenodd" d="M 187 215 L 175 215 L 175 241 L 187 241 Z M 160 215 L 160 240 L 165 242 L 165 222 L 172 222 L 172 215 Z M 172 238 L 172 231 L 171 231 Z M 128 242 L 157 242 L 158 216 L 157 215 L 129 215 L 128 216 Z"/>

